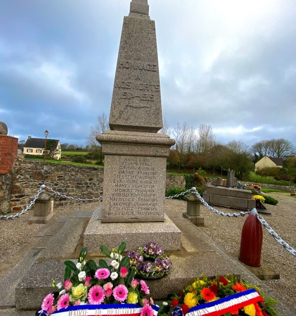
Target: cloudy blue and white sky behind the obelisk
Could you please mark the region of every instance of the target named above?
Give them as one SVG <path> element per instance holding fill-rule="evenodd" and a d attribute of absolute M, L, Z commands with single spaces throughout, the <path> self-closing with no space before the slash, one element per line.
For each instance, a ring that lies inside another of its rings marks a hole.
<path fill-rule="evenodd" d="M 130 0 L 0 0 L 0 121 L 86 145 L 109 114 Z M 163 117 L 222 142 L 296 144 L 295 0 L 148 0 Z"/>

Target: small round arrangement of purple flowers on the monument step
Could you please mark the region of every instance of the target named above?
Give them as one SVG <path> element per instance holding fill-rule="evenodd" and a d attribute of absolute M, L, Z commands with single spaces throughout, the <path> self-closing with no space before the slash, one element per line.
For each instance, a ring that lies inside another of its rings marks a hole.
<path fill-rule="evenodd" d="M 150 241 L 138 250 L 126 252 L 130 259 L 130 267 L 136 269 L 138 276 L 160 278 L 167 275 L 172 268 L 169 256 L 154 241 Z"/>

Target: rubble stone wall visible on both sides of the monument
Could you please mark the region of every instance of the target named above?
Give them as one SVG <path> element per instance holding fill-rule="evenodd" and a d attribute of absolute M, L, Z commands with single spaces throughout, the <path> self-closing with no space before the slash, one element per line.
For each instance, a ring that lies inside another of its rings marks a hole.
<path fill-rule="evenodd" d="M 21 211 L 43 183 L 70 197 L 99 197 L 103 194 L 103 179 L 102 168 L 43 163 L 25 160 L 20 155 L 14 163 L 13 172 L 0 175 L 0 213 Z M 166 191 L 173 187 L 185 188 L 184 176 L 167 174 Z M 71 202 L 61 197 L 55 197 L 55 201 L 59 204 Z"/>

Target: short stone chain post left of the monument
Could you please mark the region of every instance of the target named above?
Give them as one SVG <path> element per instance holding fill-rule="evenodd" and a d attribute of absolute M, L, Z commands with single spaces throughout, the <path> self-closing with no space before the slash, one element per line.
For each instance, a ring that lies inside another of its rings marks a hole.
<path fill-rule="evenodd" d="M 34 206 L 34 214 L 28 222 L 46 224 L 53 215 L 53 200 L 51 194 L 43 191 L 37 198 Z"/>

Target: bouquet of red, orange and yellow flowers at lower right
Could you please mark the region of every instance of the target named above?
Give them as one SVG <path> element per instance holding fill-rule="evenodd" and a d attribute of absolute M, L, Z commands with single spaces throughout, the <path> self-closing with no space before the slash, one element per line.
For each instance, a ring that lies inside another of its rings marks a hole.
<path fill-rule="evenodd" d="M 252 304 L 247 302 L 246 304 L 249 305 L 239 309 L 233 306 L 232 311 L 228 304 L 228 312 L 226 312 L 224 316 L 278 316 L 273 308 L 273 306 L 277 304 L 275 300 L 266 297 L 258 287 L 251 286 L 245 281 L 239 282 L 234 275 L 216 276 L 214 279 L 210 279 L 206 276 L 198 277 L 192 284 L 186 286 L 180 295 L 170 295 L 170 300 L 168 302 L 163 302 L 163 306 L 160 308 L 158 315 L 169 316 L 172 312 L 174 314 L 174 310 L 180 308 L 185 315 L 190 313 L 190 311 L 194 310 L 196 307 L 202 307 L 202 304 L 207 306 L 206 308 L 209 308 L 208 306 L 213 306 L 215 301 L 229 297 L 230 295 L 238 296 L 239 294 L 237 293 L 243 295 L 250 289 L 255 289 L 253 292 L 257 294 L 259 301 Z M 215 315 L 223 315 L 223 312 L 222 314 L 216 313 Z"/>

